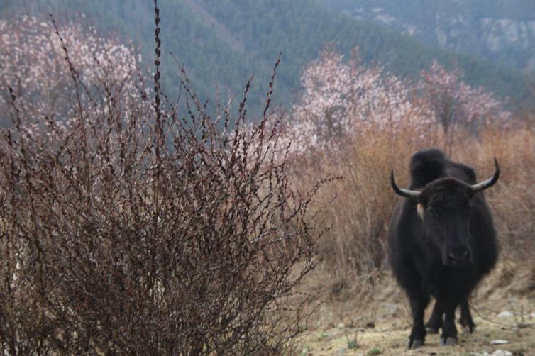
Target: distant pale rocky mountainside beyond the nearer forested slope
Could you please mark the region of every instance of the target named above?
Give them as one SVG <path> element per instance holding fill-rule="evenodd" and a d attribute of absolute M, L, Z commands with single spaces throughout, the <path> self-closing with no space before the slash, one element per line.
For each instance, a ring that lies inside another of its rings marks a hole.
<path fill-rule="evenodd" d="M 395 28 L 426 45 L 535 70 L 535 2 L 529 0 L 321 0 L 353 18 Z"/>

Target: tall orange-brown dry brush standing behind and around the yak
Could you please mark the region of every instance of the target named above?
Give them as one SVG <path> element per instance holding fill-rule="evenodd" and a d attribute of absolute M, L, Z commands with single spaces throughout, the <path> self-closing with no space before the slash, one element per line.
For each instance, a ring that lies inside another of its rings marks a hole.
<path fill-rule="evenodd" d="M 439 128 L 416 136 L 404 130 L 369 128 L 336 154 L 316 155 L 299 163 L 299 184 L 304 187 L 322 174 L 342 179 L 329 184 L 319 201 L 337 198 L 327 206 L 333 227 L 319 241 L 321 263 L 307 279 L 309 289 L 323 291 L 325 305 L 316 315 L 316 326 L 338 323 L 365 325 L 377 318 L 377 289 L 389 275 L 385 239 L 387 223 L 398 197 L 390 188 L 390 169 L 402 186 L 409 184 L 411 155 L 420 149 L 439 147 L 450 157 L 473 166 L 478 179 L 492 174 L 492 159 L 502 168 L 498 184 L 485 194 L 501 245 L 500 259 L 532 260 L 535 247 L 535 132 L 528 121 L 516 128 L 484 128 L 478 135 L 456 128 L 453 138 Z M 446 147 L 446 144 L 448 146 Z M 519 267 L 520 268 L 520 267 Z M 535 264 L 526 265 L 535 269 Z M 524 275 L 526 289 L 533 288 L 535 273 Z M 531 279 L 531 282 L 530 282 Z M 531 287 L 530 287 L 531 286 Z M 391 290 L 390 302 L 404 304 Z"/>

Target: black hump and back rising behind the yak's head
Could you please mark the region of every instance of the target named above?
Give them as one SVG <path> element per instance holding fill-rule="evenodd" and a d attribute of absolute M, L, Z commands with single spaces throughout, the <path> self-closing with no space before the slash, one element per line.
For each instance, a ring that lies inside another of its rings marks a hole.
<path fill-rule="evenodd" d="M 448 160 L 437 148 L 414 153 L 410 162 L 411 185 L 409 189 L 420 189 L 435 179 L 453 177 L 468 184 L 475 184 L 475 171 L 467 165 Z"/>

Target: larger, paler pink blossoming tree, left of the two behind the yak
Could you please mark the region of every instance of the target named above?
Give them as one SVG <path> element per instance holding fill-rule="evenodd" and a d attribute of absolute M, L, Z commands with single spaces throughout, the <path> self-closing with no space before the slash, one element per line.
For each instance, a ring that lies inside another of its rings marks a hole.
<path fill-rule="evenodd" d="M 295 152 L 339 148 L 360 128 L 399 127 L 429 123 L 415 106 L 408 84 L 382 67 L 364 67 L 357 50 L 346 61 L 333 50 L 325 50 L 304 70 L 304 90 L 293 107 L 292 122 L 285 137 Z"/>

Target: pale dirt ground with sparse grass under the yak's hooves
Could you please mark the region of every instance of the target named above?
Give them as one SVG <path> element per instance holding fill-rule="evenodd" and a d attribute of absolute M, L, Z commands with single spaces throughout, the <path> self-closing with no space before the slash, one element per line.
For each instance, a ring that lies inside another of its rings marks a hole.
<path fill-rule="evenodd" d="M 376 298 L 367 304 L 359 306 L 351 299 L 326 302 L 316 327 L 309 328 L 299 341 L 298 354 L 535 356 L 534 270 L 518 272 L 512 263 L 502 264 L 487 277 L 471 301 L 475 333 L 463 333 L 458 325 L 456 346 L 439 346 L 439 335 L 427 335 L 423 347 L 407 350 L 409 308 L 387 277 L 377 287 Z M 426 313 L 430 311 L 431 305 Z"/>

